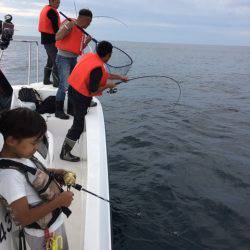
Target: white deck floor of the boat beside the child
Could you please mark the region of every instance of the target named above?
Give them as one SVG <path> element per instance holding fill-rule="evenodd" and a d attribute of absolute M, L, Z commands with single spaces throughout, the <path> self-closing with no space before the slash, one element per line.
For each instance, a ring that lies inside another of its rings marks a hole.
<path fill-rule="evenodd" d="M 64 120 L 63 123 L 62 120 L 54 117 L 54 115 L 50 115 L 49 117 L 47 117 L 48 130 L 52 133 L 54 140 L 54 159 L 51 167 L 63 168 L 75 172 L 77 176 L 77 183 L 85 186 L 87 176 L 87 163 L 86 159 L 83 159 L 83 138 L 80 138 L 72 151 L 73 154 L 80 156 L 80 162 L 71 163 L 63 161 L 59 158 L 63 140 L 71 124 L 72 117 L 70 118 L 70 120 Z M 65 217 L 65 226 L 68 236 L 69 249 L 78 250 L 84 249 L 83 246 L 86 193 L 83 191 L 77 191 L 75 189 L 72 189 L 72 191 L 74 192 L 74 200 L 70 206 L 72 214 L 68 219 Z"/>

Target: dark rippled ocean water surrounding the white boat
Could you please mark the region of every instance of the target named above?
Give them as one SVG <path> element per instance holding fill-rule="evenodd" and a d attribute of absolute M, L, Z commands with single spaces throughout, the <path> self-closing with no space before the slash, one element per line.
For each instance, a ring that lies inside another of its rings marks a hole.
<path fill-rule="evenodd" d="M 147 78 L 101 98 L 114 249 L 250 249 L 250 47 L 115 45 L 134 59 L 129 76 L 168 75 L 182 93 Z M 22 44 L 4 54 L 13 84 L 27 58 Z M 44 61 L 40 47 L 40 80 Z"/>

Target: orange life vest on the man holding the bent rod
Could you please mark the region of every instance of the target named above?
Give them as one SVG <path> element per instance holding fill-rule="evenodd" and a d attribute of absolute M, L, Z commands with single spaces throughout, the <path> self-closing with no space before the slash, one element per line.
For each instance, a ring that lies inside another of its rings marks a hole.
<path fill-rule="evenodd" d="M 74 70 L 72 71 L 71 75 L 68 78 L 68 83 L 80 94 L 84 96 L 100 96 L 102 95 L 101 92 L 97 94 L 92 94 L 89 91 L 89 80 L 90 80 L 90 73 L 95 68 L 102 68 L 102 79 L 99 83 L 99 87 L 104 87 L 107 84 L 107 80 L 109 77 L 109 73 L 105 69 L 104 62 L 101 58 L 94 53 L 87 53 L 84 55 L 77 65 L 75 66 Z"/>

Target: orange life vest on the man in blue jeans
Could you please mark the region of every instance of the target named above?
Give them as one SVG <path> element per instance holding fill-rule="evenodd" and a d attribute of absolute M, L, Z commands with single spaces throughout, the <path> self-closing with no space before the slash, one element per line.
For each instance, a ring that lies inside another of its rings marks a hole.
<path fill-rule="evenodd" d="M 72 20 L 75 19 L 72 18 Z M 73 26 L 71 32 L 67 36 L 65 36 L 62 40 L 56 41 L 56 47 L 60 50 L 72 52 L 76 55 L 81 55 L 83 50 L 84 38 L 85 36 L 83 32 L 80 31 L 76 26 Z"/>

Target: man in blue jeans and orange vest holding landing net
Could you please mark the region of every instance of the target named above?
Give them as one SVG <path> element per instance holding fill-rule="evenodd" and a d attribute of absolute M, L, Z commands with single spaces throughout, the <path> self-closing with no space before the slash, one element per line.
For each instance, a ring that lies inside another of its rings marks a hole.
<path fill-rule="evenodd" d="M 85 36 L 79 30 L 86 29 L 92 21 L 92 12 L 88 9 L 79 11 L 77 19 L 71 18 L 71 21 L 65 20 L 56 34 L 56 47 L 58 54 L 56 64 L 59 72 L 59 87 L 56 94 L 56 112 L 55 116 L 60 119 L 69 119 L 64 113 L 65 93 L 68 90 L 67 79 L 77 63 L 77 57 L 82 54 L 83 49 L 91 41 L 90 36 Z M 70 103 L 68 103 L 70 108 Z"/>

